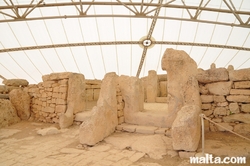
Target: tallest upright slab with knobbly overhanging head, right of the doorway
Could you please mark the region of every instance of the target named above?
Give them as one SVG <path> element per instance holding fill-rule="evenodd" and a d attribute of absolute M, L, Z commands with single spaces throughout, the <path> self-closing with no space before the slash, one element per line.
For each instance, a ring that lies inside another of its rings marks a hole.
<path fill-rule="evenodd" d="M 197 64 L 186 52 L 167 49 L 161 66 L 168 73 L 168 122 L 171 127 L 177 112 L 185 104 L 201 106 L 198 81 L 195 78 Z"/>

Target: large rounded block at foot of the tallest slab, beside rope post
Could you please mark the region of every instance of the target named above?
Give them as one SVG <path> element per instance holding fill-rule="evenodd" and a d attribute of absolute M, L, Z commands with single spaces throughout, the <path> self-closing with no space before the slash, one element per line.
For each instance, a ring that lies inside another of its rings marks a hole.
<path fill-rule="evenodd" d="M 174 150 L 196 151 L 200 141 L 200 107 L 185 105 L 177 113 L 172 125 Z"/>

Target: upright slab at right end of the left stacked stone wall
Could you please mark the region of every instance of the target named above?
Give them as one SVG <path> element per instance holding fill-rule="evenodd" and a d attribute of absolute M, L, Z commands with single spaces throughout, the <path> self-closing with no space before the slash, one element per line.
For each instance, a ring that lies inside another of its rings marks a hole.
<path fill-rule="evenodd" d="M 66 74 L 67 75 L 67 74 Z M 61 77 L 63 77 L 62 75 Z M 59 76 L 57 76 L 59 77 Z M 68 81 L 67 110 L 59 117 L 60 128 L 73 124 L 73 114 L 85 109 L 85 78 L 82 74 L 71 73 Z"/>

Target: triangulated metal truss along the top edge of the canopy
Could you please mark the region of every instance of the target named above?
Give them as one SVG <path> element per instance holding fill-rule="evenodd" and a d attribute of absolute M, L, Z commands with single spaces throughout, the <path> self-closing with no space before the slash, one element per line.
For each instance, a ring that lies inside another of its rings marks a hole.
<path fill-rule="evenodd" d="M 250 11 L 239 11 L 236 10 L 234 5 L 231 3 L 231 6 L 227 3 L 226 0 L 223 0 L 224 3 L 227 5 L 228 9 L 219 9 L 219 8 L 211 8 L 207 7 L 208 1 L 205 5 L 197 4 L 197 6 L 188 6 L 185 3 L 183 5 L 179 4 L 174 4 L 174 3 L 166 3 L 164 5 L 158 4 L 158 3 L 144 3 L 143 6 L 146 8 L 152 7 L 155 8 L 153 10 L 156 10 L 157 8 L 173 8 L 173 9 L 185 9 L 187 11 L 195 10 L 196 14 L 194 16 L 190 15 L 190 17 L 186 18 L 181 18 L 181 17 L 167 17 L 167 16 L 162 16 L 159 15 L 157 18 L 158 19 L 170 19 L 170 20 L 179 20 L 179 21 L 193 21 L 193 22 L 201 22 L 201 23 L 209 23 L 209 24 L 219 24 L 219 25 L 225 25 L 225 26 L 236 26 L 236 27 L 244 27 L 244 28 L 250 28 L 250 23 L 249 19 L 246 20 L 245 22 L 242 20 L 242 15 L 248 16 L 250 15 Z M 8 4 L 6 6 L 0 6 L 0 13 L 5 15 L 6 19 L 0 19 L 1 22 L 14 22 L 14 21 L 31 21 L 31 20 L 44 20 L 44 19 L 67 19 L 67 18 L 85 18 L 85 17 L 130 17 L 130 18 L 151 18 L 154 19 L 154 16 L 151 15 L 152 10 L 150 12 L 146 12 L 145 10 L 140 13 L 136 10 L 132 10 L 132 8 L 135 8 L 138 6 L 138 8 L 141 7 L 142 3 L 139 2 L 121 2 L 120 0 L 117 0 L 117 2 L 95 2 L 95 1 L 89 1 L 89 2 L 65 2 L 65 3 L 42 3 L 43 1 L 39 1 L 38 4 L 27 4 L 27 5 L 17 5 L 17 4 Z M 113 6 L 124 6 L 124 8 L 127 8 L 127 10 L 132 10 L 133 13 L 131 15 L 122 15 L 119 13 L 110 13 L 110 14 L 97 14 L 97 15 L 91 15 L 88 14 L 87 11 L 91 6 L 94 5 L 113 5 Z M 46 17 L 31 17 L 29 13 L 35 8 L 49 8 L 49 7 L 63 7 L 63 6 L 72 6 L 77 10 L 76 15 L 51 15 L 51 16 L 46 16 Z M 77 7 L 80 6 L 80 9 Z M 86 6 L 87 10 L 83 11 L 82 6 Z M 28 13 L 26 13 L 24 16 L 18 16 L 18 10 L 19 9 L 32 9 L 29 10 Z M 80 11 L 80 12 L 79 12 Z M 201 14 L 202 11 L 207 11 L 207 12 L 219 12 L 219 13 L 229 13 L 232 16 L 234 16 L 239 22 L 234 23 L 234 22 L 216 22 L 213 20 L 202 20 L 201 18 L 198 18 L 198 15 Z M 191 13 L 190 13 L 191 14 Z"/>

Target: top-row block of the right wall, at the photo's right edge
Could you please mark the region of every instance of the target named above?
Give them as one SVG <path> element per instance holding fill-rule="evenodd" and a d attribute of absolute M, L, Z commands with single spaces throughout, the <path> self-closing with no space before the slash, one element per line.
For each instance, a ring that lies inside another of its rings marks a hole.
<path fill-rule="evenodd" d="M 229 71 L 229 79 L 231 81 L 248 81 L 250 80 L 250 69 L 240 69 Z"/>

